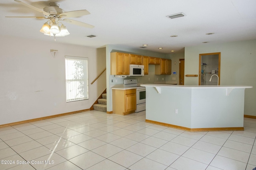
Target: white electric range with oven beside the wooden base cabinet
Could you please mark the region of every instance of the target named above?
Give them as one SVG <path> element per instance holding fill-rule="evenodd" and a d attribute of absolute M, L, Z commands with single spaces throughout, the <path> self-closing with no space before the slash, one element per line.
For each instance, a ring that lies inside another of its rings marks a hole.
<path fill-rule="evenodd" d="M 124 87 L 136 87 L 136 110 L 146 110 L 146 87 L 138 86 L 137 79 L 124 80 Z"/>

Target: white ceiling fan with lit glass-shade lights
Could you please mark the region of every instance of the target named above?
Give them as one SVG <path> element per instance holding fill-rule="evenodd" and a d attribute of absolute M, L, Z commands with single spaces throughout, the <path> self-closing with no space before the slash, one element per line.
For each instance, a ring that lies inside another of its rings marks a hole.
<path fill-rule="evenodd" d="M 59 8 L 59 4 L 56 2 L 50 2 L 50 6 L 44 7 L 43 10 L 36 8 L 32 5 L 26 4 L 24 2 L 21 2 L 19 0 L 14 0 L 15 2 L 18 2 L 28 8 L 31 8 L 33 10 L 36 10 L 38 12 L 42 12 L 45 17 L 42 16 L 6 16 L 7 18 L 37 18 L 37 19 L 46 19 L 46 23 L 42 26 L 42 29 L 40 32 L 44 33 L 45 35 L 55 36 L 56 37 L 64 37 L 66 35 L 69 35 L 70 33 L 66 29 L 66 26 L 61 22 L 65 21 L 74 25 L 86 27 L 86 28 L 94 28 L 93 25 L 90 25 L 88 23 L 66 19 L 66 18 L 72 18 L 72 17 L 80 17 L 90 14 L 87 10 L 78 10 L 78 11 L 70 11 L 65 12 L 61 8 Z M 59 25 L 61 23 L 61 25 Z"/>

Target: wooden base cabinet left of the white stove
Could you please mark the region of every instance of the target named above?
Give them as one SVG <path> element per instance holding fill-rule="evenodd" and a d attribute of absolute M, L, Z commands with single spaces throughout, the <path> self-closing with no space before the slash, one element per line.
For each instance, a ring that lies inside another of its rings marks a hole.
<path fill-rule="evenodd" d="M 113 113 L 127 115 L 136 110 L 136 89 L 112 90 Z"/>

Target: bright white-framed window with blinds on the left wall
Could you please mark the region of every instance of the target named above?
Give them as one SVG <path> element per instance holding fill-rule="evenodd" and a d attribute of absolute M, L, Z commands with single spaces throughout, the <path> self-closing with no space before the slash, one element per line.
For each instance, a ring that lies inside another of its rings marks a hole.
<path fill-rule="evenodd" d="M 66 102 L 88 99 L 88 58 L 65 56 Z"/>

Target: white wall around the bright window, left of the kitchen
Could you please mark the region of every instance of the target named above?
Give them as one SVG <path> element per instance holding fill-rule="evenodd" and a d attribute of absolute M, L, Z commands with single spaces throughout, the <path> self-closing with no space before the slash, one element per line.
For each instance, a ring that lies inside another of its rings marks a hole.
<path fill-rule="evenodd" d="M 89 109 L 106 88 L 106 74 L 90 85 L 106 65 L 105 49 L 60 44 L 58 39 L 0 39 L 0 125 Z M 59 51 L 55 58 L 50 49 Z M 65 55 L 89 58 L 89 100 L 66 102 Z"/>

